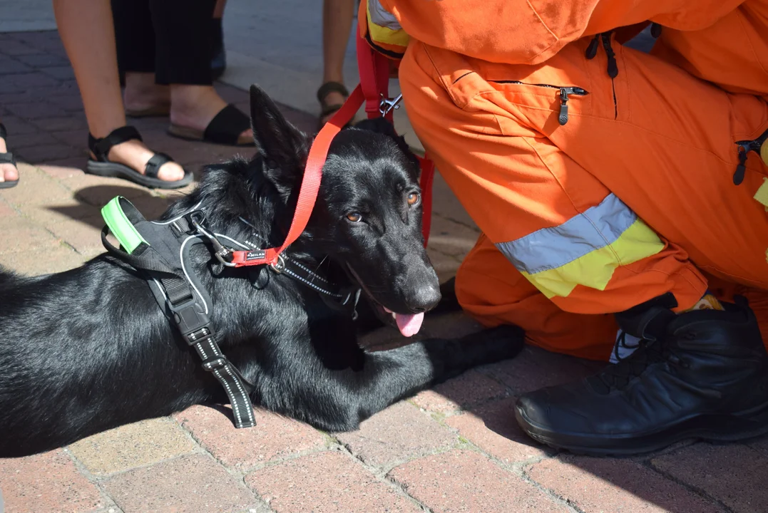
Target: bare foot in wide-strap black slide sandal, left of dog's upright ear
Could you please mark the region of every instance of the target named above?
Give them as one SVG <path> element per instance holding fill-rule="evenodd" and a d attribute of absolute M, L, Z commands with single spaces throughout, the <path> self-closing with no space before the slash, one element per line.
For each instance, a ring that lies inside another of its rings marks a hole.
<path fill-rule="evenodd" d="M 227 102 L 213 86 L 173 84 L 170 87 L 170 123 L 178 127 L 205 130 L 224 107 Z M 243 130 L 240 139 L 253 140 L 253 130 Z"/>

